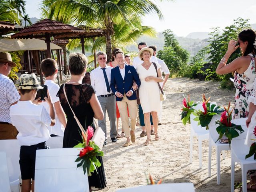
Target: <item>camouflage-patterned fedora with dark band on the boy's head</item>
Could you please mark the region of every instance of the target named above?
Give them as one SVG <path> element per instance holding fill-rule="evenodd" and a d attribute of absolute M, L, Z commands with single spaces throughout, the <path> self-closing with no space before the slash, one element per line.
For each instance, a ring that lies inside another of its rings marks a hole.
<path fill-rule="evenodd" d="M 17 86 L 18 89 L 43 89 L 42 86 L 40 86 L 36 75 L 34 73 L 32 74 L 22 74 L 19 79 L 19 84 Z"/>

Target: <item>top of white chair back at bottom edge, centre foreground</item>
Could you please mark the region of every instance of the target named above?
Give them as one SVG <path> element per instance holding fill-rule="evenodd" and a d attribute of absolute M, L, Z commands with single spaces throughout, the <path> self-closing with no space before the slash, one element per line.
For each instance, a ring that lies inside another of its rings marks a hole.
<path fill-rule="evenodd" d="M 146 185 L 127 189 L 116 190 L 116 192 L 194 192 L 193 183 L 162 183 L 159 185 Z"/>

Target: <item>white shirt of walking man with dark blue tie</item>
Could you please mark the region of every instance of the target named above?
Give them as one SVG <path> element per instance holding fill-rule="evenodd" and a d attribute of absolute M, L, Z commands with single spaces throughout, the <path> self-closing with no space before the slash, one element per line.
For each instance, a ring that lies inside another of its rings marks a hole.
<path fill-rule="evenodd" d="M 108 83 L 110 86 L 110 79 L 111 79 L 111 70 L 113 69 L 112 67 L 106 65 L 105 67 L 105 71 L 106 71 L 106 75 L 108 78 Z M 100 95 L 108 95 L 112 93 L 112 90 L 110 89 L 110 92 L 108 92 L 107 90 L 107 86 L 106 86 L 106 82 L 105 82 L 105 78 L 104 78 L 104 74 L 103 74 L 103 70 L 100 66 L 98 66 L 96 69 L 91 71 L 91 85 L 95 90 L 95 94 L 96 96 L 100 96 Z"/>

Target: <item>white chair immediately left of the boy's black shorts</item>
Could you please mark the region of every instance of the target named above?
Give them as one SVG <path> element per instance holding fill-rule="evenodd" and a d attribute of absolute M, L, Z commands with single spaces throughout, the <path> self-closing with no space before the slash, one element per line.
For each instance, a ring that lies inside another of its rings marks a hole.
<path fill-rule="evenodd" d="M 0 140 L 0 151 L 6 153 L 7 168 L 11 190 L 19 192 L 20 144 L 16 139 Z"/>

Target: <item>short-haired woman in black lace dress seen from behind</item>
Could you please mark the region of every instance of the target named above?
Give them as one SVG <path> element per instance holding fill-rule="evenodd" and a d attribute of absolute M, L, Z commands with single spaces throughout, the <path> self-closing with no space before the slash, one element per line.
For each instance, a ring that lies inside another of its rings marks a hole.
<path fill-rule="evenodd" d="M 87 63 L 88 61 L 84 54 L 70 54 L 69 70 L 71 73 L 71 79 L 70 82 L 65 85 L 68 102 L 76 114 L 76 117 L 84 127 L 84 130 L 87 130 L 88 126 L 92 126 L 94 128 L 93 118 L 99 120 L 104 118 L 102 108 L 95 95 L 94 89 L 88 84 L 82 84 Z M 58 96 L 68 119 L 64 132 L 63 148 L 72 148 L 82 142 L 82 133 L 65 98 L 63 85 L 60 86 Z M 97 158 L 101 163 L 101 166 L 97 168 L 98 174 L 94 171 L 92 176 L 88 176 L 88 180 L 90 188 L 102 189 L 106 187 L 106 178 L 102 157 L 97 156 Z"/>

